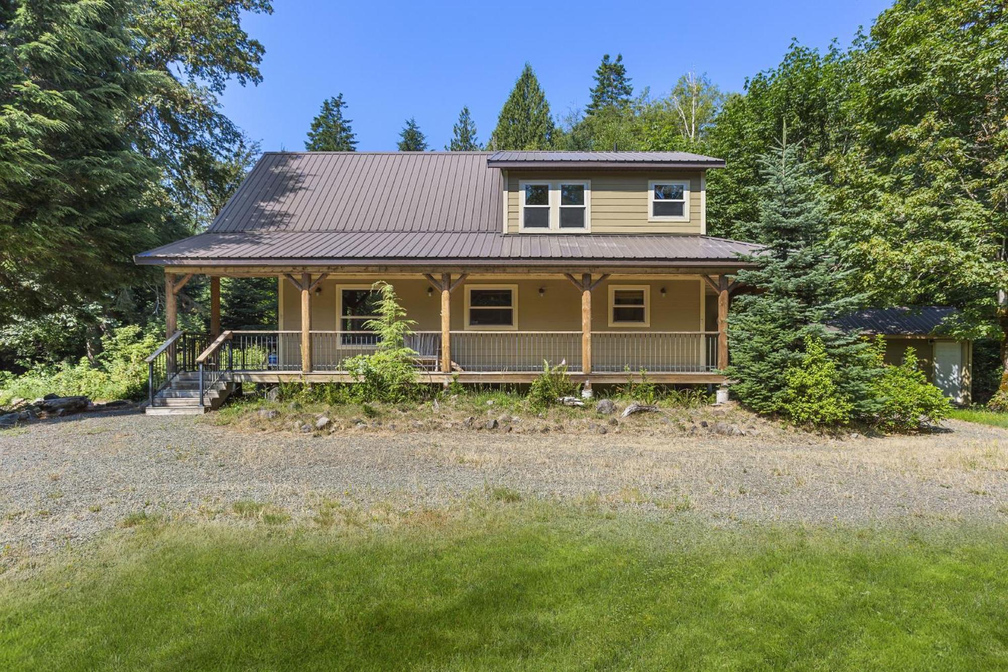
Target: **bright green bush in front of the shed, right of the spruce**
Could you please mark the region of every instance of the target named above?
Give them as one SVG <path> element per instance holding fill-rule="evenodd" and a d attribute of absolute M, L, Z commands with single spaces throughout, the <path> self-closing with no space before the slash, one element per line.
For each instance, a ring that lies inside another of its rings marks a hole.
<path fill-rule="evenodd" d="M 917 355 L 907 348 L 903 363 L 888 366 L 884 363 L 885 341 L 875 342 L 876 356 L 882 374 L 875 380 L 875 395 L 882 409 L 874 425 L 885 432 L 912 431 L 922 422 L 936 422 L 949 417 L 952 406 L 941 390 L 927 382 L 917 367 Z"/>

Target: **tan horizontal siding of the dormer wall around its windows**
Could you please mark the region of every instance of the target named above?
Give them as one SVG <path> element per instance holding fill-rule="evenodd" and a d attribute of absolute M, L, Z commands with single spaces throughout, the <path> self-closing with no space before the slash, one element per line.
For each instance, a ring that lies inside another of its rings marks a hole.
<path fill-rule="evenodd" d="M 518 233 L 518 185 L 523 181 L 592 181 L 592 233 L 703 233 L 702 173 L 517 173 L 507 175 L 507 232 Z M 647 221 L 650 181 L 689 181 L 689 221 Z"/>

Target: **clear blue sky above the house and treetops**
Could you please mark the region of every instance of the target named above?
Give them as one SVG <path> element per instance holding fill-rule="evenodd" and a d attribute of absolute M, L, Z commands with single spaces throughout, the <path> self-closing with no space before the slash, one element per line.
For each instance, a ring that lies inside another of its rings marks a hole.
<path fill-rule="evenodd" d="M 485 141 L 526 61 L 554 115 L 585 105 L 607 52 L 623 53 L 635 92 L 667 92 L 688 70 L 741 91 L 792 37 L 846 46 L 891 1 L 274 4 L 272 15 L 244 21 L 266 47 L 263 83 L 232 84 L 225 113 L 264 150 L 301 150 L 322 101 L 342 92 L 358 149 L 393 150 L 410 116 L 444 148 L 463 105 Z"/>

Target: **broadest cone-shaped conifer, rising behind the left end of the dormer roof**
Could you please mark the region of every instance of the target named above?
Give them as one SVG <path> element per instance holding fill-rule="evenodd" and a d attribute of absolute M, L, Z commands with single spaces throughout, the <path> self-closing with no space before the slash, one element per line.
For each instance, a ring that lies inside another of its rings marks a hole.
<path fill-rule="evenodd" d="M 552 143 L 553 118 L 549 114 L 546 94 L 532 72 L 525 64 L 521 76 L 511 90 L 500 117 L 497 128 L 490 138 L 494 149 L 548 149 Z"/>

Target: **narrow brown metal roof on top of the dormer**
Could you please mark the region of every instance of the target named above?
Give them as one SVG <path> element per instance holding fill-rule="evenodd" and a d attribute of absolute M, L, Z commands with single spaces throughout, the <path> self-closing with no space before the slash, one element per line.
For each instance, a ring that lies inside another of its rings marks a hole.
<path fill-rule="evenodd" d="M 499 169 L 725 167 L 725 159 L 686 151 L 498 151 L 487 165 Z"/>

